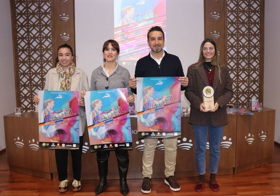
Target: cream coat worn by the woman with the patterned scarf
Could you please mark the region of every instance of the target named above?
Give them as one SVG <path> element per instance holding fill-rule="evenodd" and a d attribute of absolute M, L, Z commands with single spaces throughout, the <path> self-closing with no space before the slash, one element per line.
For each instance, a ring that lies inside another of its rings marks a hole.
<path fill-rule="evenodd" d="M 45 87 L 43 90 L 59 90 L 59 73 L 56 68 L 48 70 L 45 76 Z M 89 91 L 88 79 L 85 72 L 76 67 L 75 73 L 71 79 L 71 91 Z M 79 136 L 82 136 L 85 130 L 86 116 L 85 112 L 80 108 L 79 110 L 80 126 Z"/>

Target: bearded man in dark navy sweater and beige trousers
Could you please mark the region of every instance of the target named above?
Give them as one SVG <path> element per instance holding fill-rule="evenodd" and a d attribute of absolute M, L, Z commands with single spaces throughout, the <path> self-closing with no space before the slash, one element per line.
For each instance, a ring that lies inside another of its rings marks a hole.
<path fill-rule="evenodd" d="M 181 90 L 188 86 L 188 78 L 184 76 L 183 67 L 178 56 L 169 54 L 163 50 L 164 32 L 160 26 L 153 26 L 147 34 L 148 45 L 151 52 L 139 59 L 135 68 L 135 77 L 129 79 L 129 86 L 133 93 L 136 94 L 137 77 L 175 77 L 180 76 Z M 164 144 L 164 163 L 165 163 L 165 184 L 172 191 L 180 191 L 180 185 L 174 178 L 176 156 L 177 156 L 177 138 L 165 138 Z M 144 151 L 142 157 L 142 175 L 143 183 L 141 192 L 144 194 L 151 193 L 151 178 L 153 173 L 153 162 L 155 149 L 158 139 L 145 138 Z"/>

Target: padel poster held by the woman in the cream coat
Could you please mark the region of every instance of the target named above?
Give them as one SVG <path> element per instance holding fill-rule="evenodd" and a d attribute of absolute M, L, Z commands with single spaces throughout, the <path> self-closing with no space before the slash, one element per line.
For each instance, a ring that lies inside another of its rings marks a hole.
<path fill-rule="evenodd" d="M 79 91 L 39 91 L 39 147 L 79 148 Z"/>

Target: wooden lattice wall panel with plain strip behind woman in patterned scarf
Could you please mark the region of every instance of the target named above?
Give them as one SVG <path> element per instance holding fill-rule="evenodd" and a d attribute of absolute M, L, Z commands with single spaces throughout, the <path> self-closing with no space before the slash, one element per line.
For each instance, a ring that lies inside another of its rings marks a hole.
<path fill-rule="evenodd" d="M 23 112 L 35 110 L 33 97 L 55 64 L 55 48 L 67 42 L 75 50 L 73 5 L 73 0 L 11 0 L 16 105 Z"/>

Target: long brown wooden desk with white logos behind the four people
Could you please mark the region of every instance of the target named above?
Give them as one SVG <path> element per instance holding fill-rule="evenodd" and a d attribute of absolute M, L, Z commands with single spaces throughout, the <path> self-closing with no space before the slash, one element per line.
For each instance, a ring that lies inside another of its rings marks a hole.
<path fill-rule="evenodd" d="M 264 108 L 253 116 L 228 115 L 221 142 L 219 175 L 236 174 L 272 162 L 274 151 L 275 110 Z M 195 139 L 189 117 L 182 117 L 181 138 L 178 139 L 176 177 L 197 176 L 195 164 Z M 6 153 L 9 170 L 45 179 L 57 180 L 54 150 L 39 149 L 38 113 L 4 116 Z M 129 150 L 128 179 L 142 178 L 143 140 L 137 137 L 137 119 L 131 118 L 133 150 Z M 163 144 L 159 140 L 159 145 Z M 99 179 L 96 153 L 89 150 L 88 132 L 84 134 L 82 179 Z M 71 180 L 71 159 L 68 159 Z M 207 172 L 209 149 L 207 150 Z M 164 178 L 164 151 L 156 149 L 152 178 Z M 208 173 L 207 173 L 208 174 Z M 110 153 L 108 179 L 118 179 L 115 152 Z"/>

